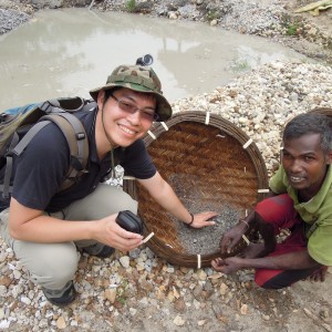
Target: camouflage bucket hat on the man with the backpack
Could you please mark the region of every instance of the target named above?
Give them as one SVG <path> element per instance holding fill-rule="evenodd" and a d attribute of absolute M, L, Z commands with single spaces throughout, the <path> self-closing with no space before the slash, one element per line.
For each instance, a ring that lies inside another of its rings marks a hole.
<path fill-rule="evenodd" d="M 152 68 L 120 65 L 107 77 L 104 86 L 91 90 L 90 94 L 96 101 L 101 90 L 110 90 L 116 86 L 153 94 L 157 102 L 156 113 L 159 115 L 158 121 L 166 121 L 172 116 L 172 107 L 164 97 L 160 81 Z"/>

